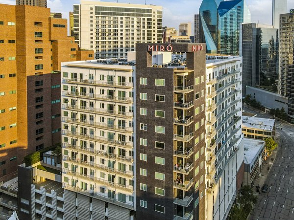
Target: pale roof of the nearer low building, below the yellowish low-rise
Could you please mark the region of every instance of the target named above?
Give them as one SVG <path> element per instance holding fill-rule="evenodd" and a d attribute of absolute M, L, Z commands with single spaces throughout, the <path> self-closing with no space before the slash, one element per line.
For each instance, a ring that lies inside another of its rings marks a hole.
<path fill-rule="evenodd" d="M 257 154 L 265 146 L 264 140 L 257 140 L 253 138 L 244 138 L 244 163 L 251 164 L 254 162 Z"/>

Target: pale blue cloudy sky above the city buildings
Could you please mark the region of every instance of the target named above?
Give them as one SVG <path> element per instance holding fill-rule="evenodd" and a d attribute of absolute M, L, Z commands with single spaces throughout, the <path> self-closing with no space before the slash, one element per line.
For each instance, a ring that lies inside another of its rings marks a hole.
<path fill-rule="evenodd" d="M 117 0 L 103 0 L 116 2 Z M 80 0 L 47 0 L 51 12 L 61 12 L 63 18 L 69 18 L 73 4 Z M 163 6 L 163 26 L 178 29 L 180 22 L 194 23 L 194 15 L 198 14 L 202 0 L 118 0 L 121 3 L 154 4 Z M 251 22 L 271 24 L 272 0 L 246 0 L 251 12 Z M 15 4 L 15 0 L 0 0 L 0 3 Z M 288 0 L 288 10 L 294 8 L 294 0 Z M 193 24 L 194 27 L 194 24 Z M 194 28 L 193 28 L 194 29 Z"/>

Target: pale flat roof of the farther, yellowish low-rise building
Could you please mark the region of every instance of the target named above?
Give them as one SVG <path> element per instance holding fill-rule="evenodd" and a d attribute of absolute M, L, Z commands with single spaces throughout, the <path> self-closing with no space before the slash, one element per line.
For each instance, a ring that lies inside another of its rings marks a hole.
<path fill-rule="evenodd" d="M 257 118 L 257 117 L 248 117 L 242 116 L 242 127 L 267 130 L 272 132 L 274 128 L 274 119 L 269 118 Z"/>

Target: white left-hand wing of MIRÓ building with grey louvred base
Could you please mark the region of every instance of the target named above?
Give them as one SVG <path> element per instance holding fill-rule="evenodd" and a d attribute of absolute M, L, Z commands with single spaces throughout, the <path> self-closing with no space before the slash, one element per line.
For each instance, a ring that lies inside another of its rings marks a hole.
<path fill-rule="evenodd" d="M 65 219 L 134 216 L 135 66 L 107 63 L 62 64 Z"/>

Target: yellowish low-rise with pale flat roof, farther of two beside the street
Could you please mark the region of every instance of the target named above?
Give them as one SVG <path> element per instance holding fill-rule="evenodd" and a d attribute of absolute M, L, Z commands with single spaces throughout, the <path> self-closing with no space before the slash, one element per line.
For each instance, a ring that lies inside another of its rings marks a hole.
<path fill-rule="evenodd" d="M 275 120 L 242 116 L 242 132 L 245 137 L 263 140 L 265 137 L 274 138 Z"/>

